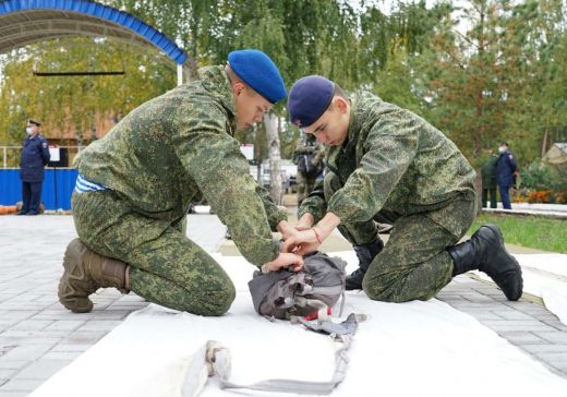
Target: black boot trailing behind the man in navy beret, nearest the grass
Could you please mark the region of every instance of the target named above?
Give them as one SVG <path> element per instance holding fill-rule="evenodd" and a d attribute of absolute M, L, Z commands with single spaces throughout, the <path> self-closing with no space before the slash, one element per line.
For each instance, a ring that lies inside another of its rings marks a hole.
<path fill-rule="evenodd" d="M 506 298 L 521 297 L 523 280 L 518 261 L 504 246 L 502 231 L 496 225 L 483 225 L 471 239 L 447 250 L 453 257 L 453 276 L 479 269 L 486 273 Z"/>

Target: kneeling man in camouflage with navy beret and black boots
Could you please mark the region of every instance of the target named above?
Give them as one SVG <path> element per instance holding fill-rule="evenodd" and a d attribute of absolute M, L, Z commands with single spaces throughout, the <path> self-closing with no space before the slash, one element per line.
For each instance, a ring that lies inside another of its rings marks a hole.
<path fill-rule="evenodd" d="M 457 244 L 476 214 L 474 171 L 441 131 L 369 93 L 351 101 L 316 75 L 293 85 L 288 108 L 293 123 L 330 148 L 325 179 L 301 205 L 285 250 L 316 250 L 338 227 L 359 257 L 347 288 L 373 300 L 426 300 L 470 269 L 487 273 L 509 300 L 520 298 L 521 269 L 496 226 Z M 375 220 L 394 225 L 385 246 Z"/>

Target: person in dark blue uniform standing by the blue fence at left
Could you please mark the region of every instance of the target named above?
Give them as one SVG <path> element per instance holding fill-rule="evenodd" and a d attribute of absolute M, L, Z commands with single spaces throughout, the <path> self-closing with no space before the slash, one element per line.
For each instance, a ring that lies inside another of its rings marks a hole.
<path fill-rule="evenodd" d="M 41 124 L 32 119 L 27 120 L 27 137 L 22 147 L 20 160 L 20 179 L 22 179 L 22 209 L 17 215 L 39 214 L 41 184 L 44 183 L 44 167 L 49 161 L 47 141 L 39 135 Z"/>

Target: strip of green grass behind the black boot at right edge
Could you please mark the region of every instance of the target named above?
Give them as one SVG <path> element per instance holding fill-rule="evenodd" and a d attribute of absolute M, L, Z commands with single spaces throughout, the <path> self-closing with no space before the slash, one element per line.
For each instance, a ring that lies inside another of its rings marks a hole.
<path fill-rule="evenodd" d="M 567 254 L 567 220 L 482 214 L 472 224 L 469 234 L 483 224 L 497 225 L 502 229 L 506 243 Z"/>

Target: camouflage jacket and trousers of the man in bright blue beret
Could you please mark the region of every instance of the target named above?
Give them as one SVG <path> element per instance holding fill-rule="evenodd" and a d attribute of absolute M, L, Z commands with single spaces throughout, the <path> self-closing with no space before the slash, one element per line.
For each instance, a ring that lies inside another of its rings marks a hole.
<path fill-rule="evenodd" d="M 184 234 L 192 201 L 205 198 L 242 255 L 262 266 L 277 257 L 270 228 L 286 213 L 249 175 L 232 137 L 236 110 L 222 67 L 152 99 L 76 159 L 81 175 L 110 191 L 73 196 L 81 240 L 131 265 L 132 290 L 195 314 L 221 314 L 234 287 L 220 266 Z"/>

